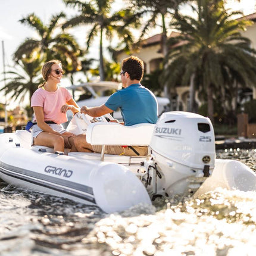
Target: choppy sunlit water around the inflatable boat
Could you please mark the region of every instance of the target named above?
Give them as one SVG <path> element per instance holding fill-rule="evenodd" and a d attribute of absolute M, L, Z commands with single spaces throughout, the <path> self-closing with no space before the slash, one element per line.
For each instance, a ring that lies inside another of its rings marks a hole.
<path fill-rule="evenodd" d="M 218 151 L 256 171 L 256 150 Z M 120 214 L 0 183 L 0 255 L 255 255 L 256 192 L 218 189 Z"/>

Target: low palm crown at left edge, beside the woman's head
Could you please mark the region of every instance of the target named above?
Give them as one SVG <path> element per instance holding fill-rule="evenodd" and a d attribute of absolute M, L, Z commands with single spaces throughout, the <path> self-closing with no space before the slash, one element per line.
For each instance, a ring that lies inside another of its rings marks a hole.
<path fill-rule="evenodd" d="M 7 83 L 0 90 L 4 91 L 7 95 L 10 94 L 11 98 L 15 100 L 20 99 L 23 102 L 24 97 L 29 93 L 29 99 L 38 85 L 42 82 L 40 76 L 41 61 L 36 58 L 33 61 L 27 62 L 26 60 L 18 61 L 14 70 L 7 71 Z"/>

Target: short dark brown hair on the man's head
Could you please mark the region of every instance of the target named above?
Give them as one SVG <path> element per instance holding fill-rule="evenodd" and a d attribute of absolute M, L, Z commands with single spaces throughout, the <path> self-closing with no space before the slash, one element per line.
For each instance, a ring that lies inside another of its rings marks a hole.
<path fill-rule="evenodd" d="M 130 75 L 130 80 L 141 81 L 144 71 L 143 61 L 135 56 L 125 58 L 122 62 L 122 70 Z"/>

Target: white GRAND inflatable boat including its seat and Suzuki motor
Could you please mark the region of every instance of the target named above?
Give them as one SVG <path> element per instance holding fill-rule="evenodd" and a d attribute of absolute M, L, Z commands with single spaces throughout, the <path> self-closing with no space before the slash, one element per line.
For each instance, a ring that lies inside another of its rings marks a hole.
<path fill-rule="evenodd" d="M 158 196 L 198 196 L 221 187 L 255 191 L 256 175 L 244 164 L 215 157 L 209 118 L 182 111 L 161 115 L 157 124 L 123 126 L 77 113 L 68 125 L 86 133 L 101 154 L 30 146 L 32 133 L 0 135 L 0 178 L 11 185 L 98 205 L 106 213 Z M 105 145 L 146 145 L 145 157 L 104 154 Z"/>

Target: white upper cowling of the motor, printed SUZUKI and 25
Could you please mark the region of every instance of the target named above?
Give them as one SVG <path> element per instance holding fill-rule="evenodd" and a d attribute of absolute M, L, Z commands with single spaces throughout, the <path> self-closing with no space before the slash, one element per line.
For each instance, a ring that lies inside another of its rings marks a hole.
<path fill-rule="evenodd" d="M 214 168 L 215 138 L 211 121 L 202 115 L 173 111 L 161 115 L 150 148 L 167 160 L 195 169 Z"/>

